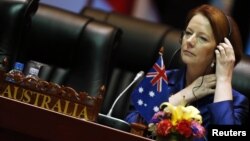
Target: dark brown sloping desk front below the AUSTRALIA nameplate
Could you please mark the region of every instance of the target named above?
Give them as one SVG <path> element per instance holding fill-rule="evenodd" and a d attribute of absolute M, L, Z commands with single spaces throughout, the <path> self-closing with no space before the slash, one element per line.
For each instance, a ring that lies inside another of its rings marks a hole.
<path fill-rule="evenodd" d="M 152 141 L 0 96 L 1 141 Z"/>

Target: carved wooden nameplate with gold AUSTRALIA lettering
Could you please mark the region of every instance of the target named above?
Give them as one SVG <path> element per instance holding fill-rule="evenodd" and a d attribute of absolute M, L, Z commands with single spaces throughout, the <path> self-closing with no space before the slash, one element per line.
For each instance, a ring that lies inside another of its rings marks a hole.
<path fill-rule="evenodd" d="M 12 83 L 6 81 L 6 75 L 0 73 L 0 96 L 76 118 L 96 121 L 102 103 L 101 93 L 92 97 L 86 92 L 77 93 L 70 87 L 45 81 L 34 83 L 34 80 L 23 80 Z"/>

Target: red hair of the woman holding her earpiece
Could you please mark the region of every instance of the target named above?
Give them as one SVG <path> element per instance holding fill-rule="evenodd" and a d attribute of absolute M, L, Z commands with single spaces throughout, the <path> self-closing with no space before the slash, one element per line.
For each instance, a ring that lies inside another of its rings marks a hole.
<path fill-rule="evenodd" d="M 225 15 L 220 9 L 214 6 L 204 4 L 188 13 L 186 27 L 192 17 L 197 14 L 202 14 L 209 20 L 217 44 L 224 42 L 224 37 L 230 40 L 235 53 L 236 65 L 242 57 L 243 48 L 239 28 L 233 18 Z"/>

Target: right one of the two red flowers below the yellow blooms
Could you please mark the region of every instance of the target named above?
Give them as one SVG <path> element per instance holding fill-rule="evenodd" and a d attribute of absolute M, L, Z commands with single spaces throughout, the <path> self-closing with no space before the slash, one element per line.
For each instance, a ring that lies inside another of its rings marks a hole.
<path fill-rule="evenodd" d="M 186 138 L 191 137 L 192 135 L 191 122 L 187 120 L 181 120 L 177 124 L 176 130 Z"/>

